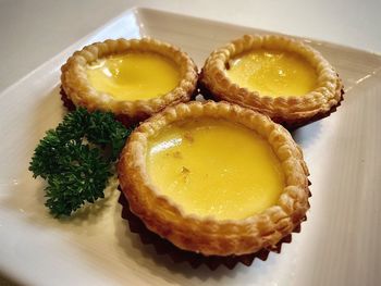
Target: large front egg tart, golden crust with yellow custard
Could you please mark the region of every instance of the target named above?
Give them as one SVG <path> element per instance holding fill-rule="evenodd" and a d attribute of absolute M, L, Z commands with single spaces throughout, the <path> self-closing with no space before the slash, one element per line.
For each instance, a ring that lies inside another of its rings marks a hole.
<path fill-rule="evenodd" d="M 288 132 L 229 102 L 180 103 L 148 119 L 118 174 L 149 231 L 204 256 L 274 246 L 309 208 L 308 170 Z"/>

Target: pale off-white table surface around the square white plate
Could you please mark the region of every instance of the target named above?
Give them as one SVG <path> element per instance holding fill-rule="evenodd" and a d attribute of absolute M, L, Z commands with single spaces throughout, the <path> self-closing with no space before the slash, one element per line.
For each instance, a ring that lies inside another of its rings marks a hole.
<path fill-rule="evenodd" d="M 0 91 L 132 7 L 311 37 L 381 53 L 380 0 L 0 0 Z M 0 285 L 14 285 L 1 275 L 7 273 L 0 270 Z"/>

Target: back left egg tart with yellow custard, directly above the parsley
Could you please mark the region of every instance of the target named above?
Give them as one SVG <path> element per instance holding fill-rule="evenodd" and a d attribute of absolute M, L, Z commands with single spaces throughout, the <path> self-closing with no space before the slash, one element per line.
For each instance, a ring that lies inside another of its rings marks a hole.
<path fill-rule="evenodd" d="M 151 38 L 96 42 L 61 67 L 65 105 L 142 121 L 195 91 L 197 67 L 180 49 Z"/>

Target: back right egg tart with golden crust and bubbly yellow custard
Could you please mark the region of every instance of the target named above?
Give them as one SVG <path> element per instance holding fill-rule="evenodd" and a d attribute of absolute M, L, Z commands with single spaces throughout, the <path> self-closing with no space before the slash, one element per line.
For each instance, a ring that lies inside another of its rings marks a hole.
<path fill-rule="evenodd" d="M 275 35 L 245 35 L 214 50 L 200 85 L 208 96 L 297 127 L 329 115 L 343 99 L 335 70 L 302 41 Z"/>

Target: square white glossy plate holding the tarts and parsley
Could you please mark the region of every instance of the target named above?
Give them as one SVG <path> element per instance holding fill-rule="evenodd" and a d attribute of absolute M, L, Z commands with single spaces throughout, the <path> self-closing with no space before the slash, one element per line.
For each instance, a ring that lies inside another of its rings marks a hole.
<path fill-rule="evenodd" d="M 62 119 L 60 66 L 84 45 L 152 36 L 188 52 L 198 66 L 248 27 L 134 9 L 71 46 L 0 95 L 0 271 L 28 285 L 376 285 L 381 278 L 381 57 L 307 40 L 344 79 L 342 107 L 294 133 L 312 182 L 311 211 L 282 253 L 233 271 L 193 270 L 143 246 L 121 219 L 118 191 L 98 211 L 67 221 L 44 207 L 44 182 L 28 162 Z"/>

